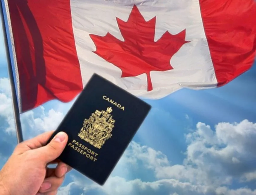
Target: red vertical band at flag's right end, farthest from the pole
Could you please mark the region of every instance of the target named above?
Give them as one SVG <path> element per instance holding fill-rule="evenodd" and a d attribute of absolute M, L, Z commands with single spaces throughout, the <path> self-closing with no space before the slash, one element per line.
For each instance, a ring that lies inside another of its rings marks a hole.
<path fill-rule="evenodd" d="M 218 86 L 252 67 L 256 55 L 255 0 L 199 0 Z"/>

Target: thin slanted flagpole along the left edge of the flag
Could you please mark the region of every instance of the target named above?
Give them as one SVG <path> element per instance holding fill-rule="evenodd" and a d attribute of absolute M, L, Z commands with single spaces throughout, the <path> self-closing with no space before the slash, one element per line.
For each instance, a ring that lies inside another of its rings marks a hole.
<path fill-rule="evenodd" d="M 8 39 L 7 39 L 7 30 L 4 22 L 4 13 L 3 13 L 3 1 L 1 0 L 1 21 L 2 21 L 2 29 L 3 29 L 3 36 L 4 36 L 4 45 L 5 45 L 5 51 L 6 51 L 6 58 L 7 58 L 7 65 L 8 65 L 8 72 L 9 72 L 9 80 L 11 85 L 11 95 L 12 95 L 12 104 L 13 104 L 13 113 L 14 113 L 14 120 L 15 120 L 15 126 L 16 126 L 16 135 L 17 135 L 17 141 L 18 143 L 21 143 L 23 141 L 22 136 L 22 127 L 21 127 L 21 120 L 20 120 L 20 112 L 19 112 L 19 106 L 18 106 L 18 100 L 17 100 L 17 93 L 15 88 L 15 81 L 13 76 L 13 70 L 11 66 L 11 57 L 10 57 L 10 51 L 8 47 Z"/>

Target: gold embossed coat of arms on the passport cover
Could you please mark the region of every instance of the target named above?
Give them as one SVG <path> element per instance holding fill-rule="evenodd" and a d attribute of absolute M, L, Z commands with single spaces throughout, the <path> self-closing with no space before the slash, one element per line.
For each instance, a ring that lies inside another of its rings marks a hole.
<path fill-rule="evenodd" d="M 106 111 L 96 110 L 91 114 L 89 119 L 84 119 L 83 127 L 78 133 L 78 136 L 100 149 L 105 141 L 112 136 L 111 132 L 115 120 L 112 118 L 111 112 L 111 107 L 107 108 Z"/>

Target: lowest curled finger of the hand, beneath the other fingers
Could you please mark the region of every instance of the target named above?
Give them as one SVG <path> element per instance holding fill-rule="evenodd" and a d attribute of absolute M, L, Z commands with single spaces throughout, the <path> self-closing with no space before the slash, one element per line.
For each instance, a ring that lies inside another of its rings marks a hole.
<path fill-rule="evenodd" d="M 58 190 L 59 186 L 61 186 L 65 176 L 58 178 L 58 177 L 48 177 L 44 180 L 43 184 L 41 185 L 38 192 L 46 193 Z"/>

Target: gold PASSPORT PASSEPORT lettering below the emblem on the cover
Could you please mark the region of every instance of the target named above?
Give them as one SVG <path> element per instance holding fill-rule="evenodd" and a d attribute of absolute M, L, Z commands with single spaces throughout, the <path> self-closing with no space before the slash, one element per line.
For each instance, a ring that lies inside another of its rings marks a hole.
<path fill-rule="evenodd" d="M 91 149 L 87 148 L 83 144 L 79 143 L 75 139 L 73 139 L 72 142 L 68 143 L 68 146 L 70 146 L 73 150 L 79 152 L 80 154 L 84 155 L 85 157 L 89 158 L 91 161 L 95 162 L 97 161 L 98 154 Z"/>

